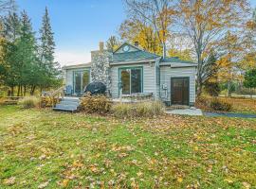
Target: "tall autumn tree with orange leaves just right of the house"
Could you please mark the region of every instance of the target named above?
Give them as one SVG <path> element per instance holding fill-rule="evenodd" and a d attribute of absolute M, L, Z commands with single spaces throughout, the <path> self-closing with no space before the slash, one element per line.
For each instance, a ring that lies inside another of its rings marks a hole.
<path fill-rule="evenodd" d="M 179 0 L 176 23 L 191 38 L 198 63 L 197 94 L 210 75 L 210 50 L 234 28 L 241 28 L 247 18 L 247 0 Z"/>

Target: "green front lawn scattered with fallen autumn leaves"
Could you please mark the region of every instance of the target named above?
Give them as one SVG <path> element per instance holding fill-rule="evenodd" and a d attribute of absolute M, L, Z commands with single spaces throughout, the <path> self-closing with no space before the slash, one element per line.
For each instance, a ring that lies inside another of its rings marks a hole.
<path fill-rule="evenodd" d="M 0 188 L 253 188 L 256 119 L 0 107 Z"/>

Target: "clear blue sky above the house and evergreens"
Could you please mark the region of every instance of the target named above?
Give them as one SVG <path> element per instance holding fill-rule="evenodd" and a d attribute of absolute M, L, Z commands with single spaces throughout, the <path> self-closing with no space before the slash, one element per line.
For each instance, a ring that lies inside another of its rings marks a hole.
<path fill-rule="evenodd" d="M 35 31 L 47 7 L 56 43 L 55 60 L 62 66 L 86 63 L 90 52 L 111 35 L 118 35 L 125 19 L 122 0 L 16 0 L 25 9 Z M 256 7 L 256 0 L 249 0 Z"/>

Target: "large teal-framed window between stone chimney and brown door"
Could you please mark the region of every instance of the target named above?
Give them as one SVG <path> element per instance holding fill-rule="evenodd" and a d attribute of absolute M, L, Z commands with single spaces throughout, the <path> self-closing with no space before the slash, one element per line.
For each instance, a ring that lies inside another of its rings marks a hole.
<path fill-rule="evenodd" d="M 121 94 L 142 93 L 142 68 L 120 68 L 119 82 Z"/>

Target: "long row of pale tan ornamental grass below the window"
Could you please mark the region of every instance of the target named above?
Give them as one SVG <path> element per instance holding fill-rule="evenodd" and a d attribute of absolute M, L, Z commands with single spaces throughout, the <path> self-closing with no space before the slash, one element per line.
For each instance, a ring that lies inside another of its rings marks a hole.
<path fill-rule="evenodd" d="M 113 106 L 112 112 L 119 118 L 152 117 L 164 112 L 164 105 L 160 101 L 119 103 Z"/>

